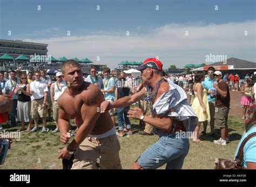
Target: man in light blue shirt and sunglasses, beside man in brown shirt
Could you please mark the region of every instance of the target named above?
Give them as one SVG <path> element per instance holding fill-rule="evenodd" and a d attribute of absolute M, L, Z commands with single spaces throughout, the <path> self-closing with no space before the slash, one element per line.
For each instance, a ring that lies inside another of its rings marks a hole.
<path fill-rule="evenodd" d="M 210 126 L 211 126 L 211 133 L 210 135 L 215 137 L 214 133 L 214 115 L 215 115 L 215 96 L 216 96 L 216 89 L 213 87 L 213 83 L 217 84 L 217 81 L 215 81 L 213 77 L 213 73 L 215 71 L 214 67 L 208 67 L 207 70 L 207 78 L 201 84 L 205 87 L 207 90 L 207 98 L 208 98 L 208 103 L 209 103 L 209 108 L 210 108 Z M 204 129 L 199 135 L 206 135 L 206 127 L 207 127 L 207 121 L 203 122 Z"/>

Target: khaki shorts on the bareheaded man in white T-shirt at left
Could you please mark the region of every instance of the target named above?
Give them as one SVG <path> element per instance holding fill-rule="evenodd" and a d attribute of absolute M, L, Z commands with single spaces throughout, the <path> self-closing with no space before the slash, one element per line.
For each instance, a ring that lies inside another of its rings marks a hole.
<path fill-rule="evenodd" d="M 44 99 L 40 99 L 40 100 L 33 100 L 31 102 L 31 117 L 33 119 L 37 119 L 39 116 L 40 117 L 46 117 L 47 114 L 47 107 L 43 108 L 43 103 L 44 103 Z"/>

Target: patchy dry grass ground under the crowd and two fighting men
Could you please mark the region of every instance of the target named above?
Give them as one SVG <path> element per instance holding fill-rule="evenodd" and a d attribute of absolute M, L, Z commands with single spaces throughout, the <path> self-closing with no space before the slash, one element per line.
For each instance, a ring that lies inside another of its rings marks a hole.
<path fill-rule="evenodd" d="M 204 143 L 194 143 L 190 140 L 190 151 L 185 158 L 183 169 L 214 169 L 215 158 L 233 160 L 235 150 L 245 129 L 244 122 L 240 118 L 240 116 L 229 116 L 228 126 L 230 128 L 231 142 L 227 146 L 214 144 L 214 139 L 207 136 L 202 138 Z M 156 142 L 158 138 L 156 135 L 139 135 L 138 120 L 131 119 L 131 123 L 133 125 L 133 135 L 118 137 L 121 146 L 119 153 L 123 169 L 129 169 L 139 155 Z M 62 160 L 57 157 L 58 150 L 64 146 L 59 142 L 59 133 L 51 133 L 56 127 L 55 124 L 53 122 L 48 122 L 47 124 L 50 129 L 48 133 L 41 133 L 41 130 L 36 133 L 22 131 L 21 140 L 14 140 L 11 149 L 8 150 L 5 163 L 0 165 L 0 169 L 62 169 Z M 3 127 L 5 131 L 16 131 L 20 126 L 6 128 L 3 125 Z M 39 124 L 39 127 L 42 127 L 42 124 Z M 71 130 L 74 132 L 75 126 L 72 126 Z M 207 128 L 207 132 L 209 130 L 210 128 Z M 220 137 L 218 129 L 215 129 L 215 133 Z M 160 169 L 164 168 L 165 166 Z"/>

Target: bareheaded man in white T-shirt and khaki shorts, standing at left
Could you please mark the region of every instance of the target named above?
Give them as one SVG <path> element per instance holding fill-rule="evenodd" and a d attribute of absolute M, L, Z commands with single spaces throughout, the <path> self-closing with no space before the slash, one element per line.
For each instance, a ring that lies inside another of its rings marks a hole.
<path fill-rule="evenodd" d="M 47 115 L 47 93 L 48 87 L 44 81 L 40 79 L 41 73 L 35 71 L 35 81 L 30 84 L 30 94 L 31 94 L 31 116 L 35 121 L 35 127 L 30 130 L 30 133 L 38 130 L 38 117 L 41 117 L 43 121 L 43 132 L 48 132 L 49 129 L 46 128 L 46 115 Z"/>

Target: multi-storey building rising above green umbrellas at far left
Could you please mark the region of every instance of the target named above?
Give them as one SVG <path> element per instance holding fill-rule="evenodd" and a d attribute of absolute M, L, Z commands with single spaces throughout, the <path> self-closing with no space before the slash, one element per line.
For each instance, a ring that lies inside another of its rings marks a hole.
<path fill-rule="evenodd" d="M 48 44 L 0 39 L 0 56 L 3 56 L 4 53 L 14 58 L 17 58 L 21 54 L 28 58 L 30 58 L 31 55 L 35 55 L 35 53 L 37 55 L 47 55 L 47 47 Z"/>

